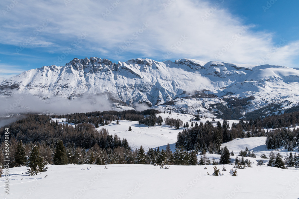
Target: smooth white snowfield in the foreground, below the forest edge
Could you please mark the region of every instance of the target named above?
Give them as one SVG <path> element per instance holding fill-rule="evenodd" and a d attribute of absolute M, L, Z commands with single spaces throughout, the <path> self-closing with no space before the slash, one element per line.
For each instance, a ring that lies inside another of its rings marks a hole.
<path fill-rule="evenodd" d="M 91 167 L 87 170 L 87 167 Z M 10 169 L 10 195 L 0 198 L 292 198 L 299 197 L 299 170 L 257 167 L 209 176 L 213 166 L 51 165 L 48 171 L 28 176 L 26 167 Z M 207 167 L 208 169 L 204 169 Z M 218 168 L 222 168 L 219 166 Z M 86 169 L 86 170 L 82 170 Z M 47 177 L 45 177 L 47 176 Z M 0 187 L 4 179 L 0 178 Z"/>

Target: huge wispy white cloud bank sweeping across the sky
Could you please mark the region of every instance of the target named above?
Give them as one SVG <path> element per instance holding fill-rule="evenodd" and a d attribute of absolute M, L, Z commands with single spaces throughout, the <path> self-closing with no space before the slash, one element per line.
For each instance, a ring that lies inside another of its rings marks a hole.
<path fill-rule="evenodd" d="M 211 10 L 215 4 L 206 1 L 120 0 L 115 8 L 113 0 L 65 2 L 69 1 L 19 1 L 0 19 L 0 42 L 19 46 L 48 20 L 49 24 L 40 28 L 28 47 L 43 46 L 48 47 L 47 51 L 61 52 L 86 32 L 88 36 L 73 52 L 99 53 L 102 58 L 120 61 L 136 55 L 156 60 L 196 58 L 292 67 L 299 54 L 299 41 L 286 41 L 272 53 L 273 33 L 254 32 L 254 24 L 243 24 L 220 6 Z M 6 7 L 9 3 L 2 1 L 0 5 Z M 203 19 L 206 13 L 210 15 Z M 184 42 L 180 41 L 182 36 Z M 121 53 L 116 55 L 115 51 Z M 223 55 L 221 51 L 225 51 Z M 270 58 L 265 59 L 267 55 Z"/>

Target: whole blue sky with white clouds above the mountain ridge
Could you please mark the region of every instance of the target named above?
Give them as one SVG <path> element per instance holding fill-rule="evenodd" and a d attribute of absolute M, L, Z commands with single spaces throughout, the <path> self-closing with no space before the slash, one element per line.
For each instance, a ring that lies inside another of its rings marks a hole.
<path fill-rule="evenodd" d="M 298 67 L 298 0 L 4 0 L 0 7 L 0 78 L 93 56 Z"/>

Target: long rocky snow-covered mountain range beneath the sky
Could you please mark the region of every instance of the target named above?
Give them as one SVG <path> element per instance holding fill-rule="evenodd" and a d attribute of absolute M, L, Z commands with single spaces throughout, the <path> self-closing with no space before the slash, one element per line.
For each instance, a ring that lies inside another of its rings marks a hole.
<path fill-rule="evenodd" d="M 199 95 L 202 92 L 205 96 Z M 29 93 L 41 99 L 108 94 L 128 105 L 161 105 L 176 99 L 173 104 L 184 104 L 181 107 L 186 109 L 195 103 L 193 110 L 210 111 L 210 104 L 227 104 L 223 97 L 254 95 L 244 110 L 248 112 L 271 103 L 284 103 L 284 108 L 297 104 L 299 70 L 194 59 L 158 62 L 138 58 L 116 64 L 95 57 L 74 58 L 65 66 L 44 66 L 0 80 L 0 93 L 2 97 Z"/>

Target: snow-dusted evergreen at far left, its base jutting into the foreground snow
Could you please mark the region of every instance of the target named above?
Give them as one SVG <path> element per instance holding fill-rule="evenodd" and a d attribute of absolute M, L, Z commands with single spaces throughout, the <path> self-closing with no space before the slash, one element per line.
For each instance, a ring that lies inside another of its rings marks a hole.
<path fill-rule="evenodd" d="M 34 145 L 31 148 L 30 155 L 28 157 L 28 174 L 37 175 L 39 172 L 45 172 L 48 167 L 45 167 L 46 162 L 39 152 L 39 147 Z"/>

